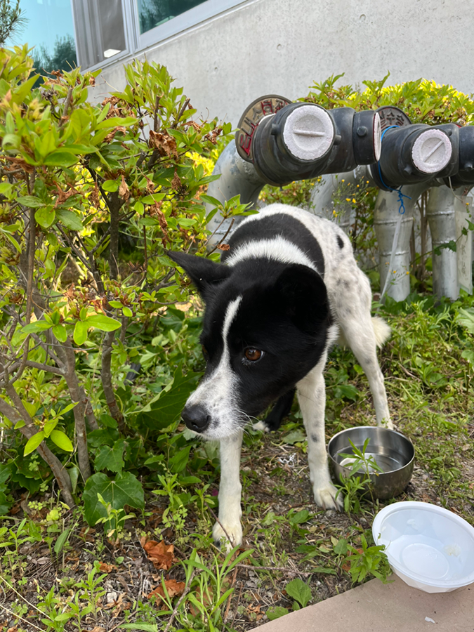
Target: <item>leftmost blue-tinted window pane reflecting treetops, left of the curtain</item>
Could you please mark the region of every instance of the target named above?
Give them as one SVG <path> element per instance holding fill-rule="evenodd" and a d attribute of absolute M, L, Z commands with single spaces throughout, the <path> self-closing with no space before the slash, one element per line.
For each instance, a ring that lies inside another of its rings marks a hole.
<path fill-rule="evenodd" d="M 28 21 L 14 43 L 34 46 L 34 67 L 49 72 L 76 66 L 70 0 L 22 0 L 20 7 Z"/>

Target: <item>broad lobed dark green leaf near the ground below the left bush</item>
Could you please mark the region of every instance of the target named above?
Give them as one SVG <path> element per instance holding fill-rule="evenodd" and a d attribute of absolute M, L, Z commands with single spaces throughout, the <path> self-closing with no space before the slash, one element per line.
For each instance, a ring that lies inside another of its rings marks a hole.
<path fill-rule="evenodd" d="M 125 505 L 136 509 L 143 509 L 145 506 L 143 487 L 131 472 L 117 474 L 114 480 L 99 472 L 88 478 L 82 494 L 84 515 L 91 527 L 96 525 L 100 518 L 107 517 L 107 511 L 97 494 L 117 510 L 123 509 Z"/>

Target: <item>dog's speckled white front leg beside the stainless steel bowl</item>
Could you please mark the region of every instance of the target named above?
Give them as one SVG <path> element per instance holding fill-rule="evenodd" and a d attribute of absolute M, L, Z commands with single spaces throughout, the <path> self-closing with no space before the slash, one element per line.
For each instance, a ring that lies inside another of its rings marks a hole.
<path fill-rule="evenodd" d="M 324 435 L 326 388 L 322 376 L 324 364 L 325 358 L 298 382 L 296 388 L 298 402 L 303 414 L 303 423 L 308 436 L 308 463 L 315 502 L 324 509 L 341 509 L 343 499 L 341 494 L 336 499 L 337 489 L 331 482 L 327 464 L 326 437 Z"/>

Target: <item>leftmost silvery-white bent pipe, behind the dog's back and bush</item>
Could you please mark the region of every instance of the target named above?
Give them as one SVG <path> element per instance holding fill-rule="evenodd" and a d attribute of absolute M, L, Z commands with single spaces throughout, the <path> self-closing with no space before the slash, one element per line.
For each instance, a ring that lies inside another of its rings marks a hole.
<path fill-rule="evenodd" d="M 209 183 L 207 195 L 215 197 L 220 202 L 226 202 L 231 197 L 240 195 L 241 204 L 250 203 L 252 209 L 256 208 L 258 195 L 265 186 L 265 181 L 258 176 L 253 164 L 239 156 L 234 140 L 231 140 L 218 157 L 212 174 L 213 176 L 220 175 L 220 178 Z M 206 214 L 215 208 L 213 204 L 206 202 Z M 207 225 L 212 232 L 207 243 L 208 249 L 213 249 L 223 237 L 227 239 L 243 219 L 244 216 L 234 218 L 232 230 L 228 232 L 232 219 L 223 220 L 220 213 L 216 213 Z"/>

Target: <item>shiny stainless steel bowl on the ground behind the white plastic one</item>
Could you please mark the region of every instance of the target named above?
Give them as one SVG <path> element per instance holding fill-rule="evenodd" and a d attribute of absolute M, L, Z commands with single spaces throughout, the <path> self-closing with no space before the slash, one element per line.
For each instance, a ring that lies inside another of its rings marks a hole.
<path fill-rule="evenodd" d="M 407 437 L 388 428 L 357 426 L 357 428 L 348 428 L 334 435 L 327 449 L 336 480 L 340 481 L 341 474 L 348 478 L 351 472 L 350 466 L 354 460 L 350 456 L 343 456 L 343 454 L 353 454 L 349 440 L 355 447 L 362 450 L 367 438 L 370 441 L 365 454 L 372 456 L 383 470 L 381 473 L 370 473 L 374 472 L 374 469 L 369 468 L 372 493 L 379 499 L 398 496 L 412 478 L 415 449 Z M 360 474 L 364 474 L 362 469 Z"/>

